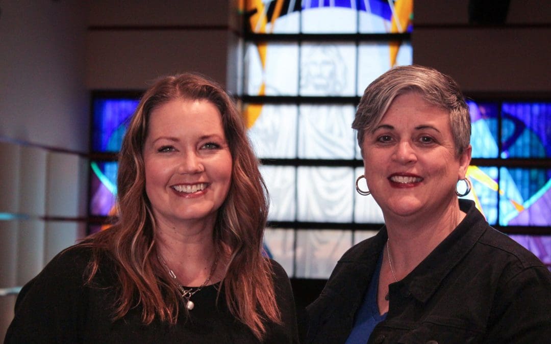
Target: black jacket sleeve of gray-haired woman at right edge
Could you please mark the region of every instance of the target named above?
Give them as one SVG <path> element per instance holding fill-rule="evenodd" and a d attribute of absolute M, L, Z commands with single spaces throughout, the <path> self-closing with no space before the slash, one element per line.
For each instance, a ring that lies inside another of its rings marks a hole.
<path fill-rule="evenodd" d="M 527 267 L 503 283 L 490 314 L 489 343 L 538 343 L 551 338 L 551 272 Z"/>

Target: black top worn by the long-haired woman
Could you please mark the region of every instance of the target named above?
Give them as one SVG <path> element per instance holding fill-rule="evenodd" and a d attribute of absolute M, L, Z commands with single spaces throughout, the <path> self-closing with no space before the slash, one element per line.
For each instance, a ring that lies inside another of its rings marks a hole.
<path fill-rule="evenodd" d="M 73 247 L 58 254 L 27 283 L 15 303 L 15 317 L 5 343 L 257 343 L 249 327 L 230 314 L 219 283 L 193 295 L 195 308 L 186 312 L 183 302 L 176 325 L 141 321 L 142 308 L 131 309 L 111 321 L 116 285 L 115 263 L 106 255 L 93 285 L 84 285 L 84 270 L 91 249 Z M 283 326 L 268 323 L 267 343 L 298 342 L 296 313 L 289 278 L 271 261 L 277 304 Z"/>

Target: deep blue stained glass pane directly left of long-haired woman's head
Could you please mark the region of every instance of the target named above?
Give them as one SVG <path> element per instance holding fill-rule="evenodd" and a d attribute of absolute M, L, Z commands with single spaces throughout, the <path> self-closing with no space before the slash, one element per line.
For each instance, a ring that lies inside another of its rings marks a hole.
<path fill-rule="evenodd" d="M 121 149 L 127 121 L 136 110 L 138 102 L 136 99 L 94 100 L 93 151 L 117 152 Z"/>

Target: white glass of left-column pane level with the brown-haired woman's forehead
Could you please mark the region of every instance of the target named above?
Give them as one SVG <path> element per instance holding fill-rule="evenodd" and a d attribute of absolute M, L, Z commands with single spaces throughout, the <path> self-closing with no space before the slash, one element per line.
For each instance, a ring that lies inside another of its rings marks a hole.
<path fill-rule="evenodd" d="M 247 134 L 260 158 L 296 157 L 296 105 L 262 105 Z"/>

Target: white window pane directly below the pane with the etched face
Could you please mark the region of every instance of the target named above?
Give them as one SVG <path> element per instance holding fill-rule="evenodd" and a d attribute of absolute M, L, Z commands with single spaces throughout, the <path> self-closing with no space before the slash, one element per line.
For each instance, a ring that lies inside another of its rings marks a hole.
<path fill-rule="evenodd" d="M 353 159 L 354 131 L 350 128 L 354 106 L 301 105 L 299 157 Z"/>

